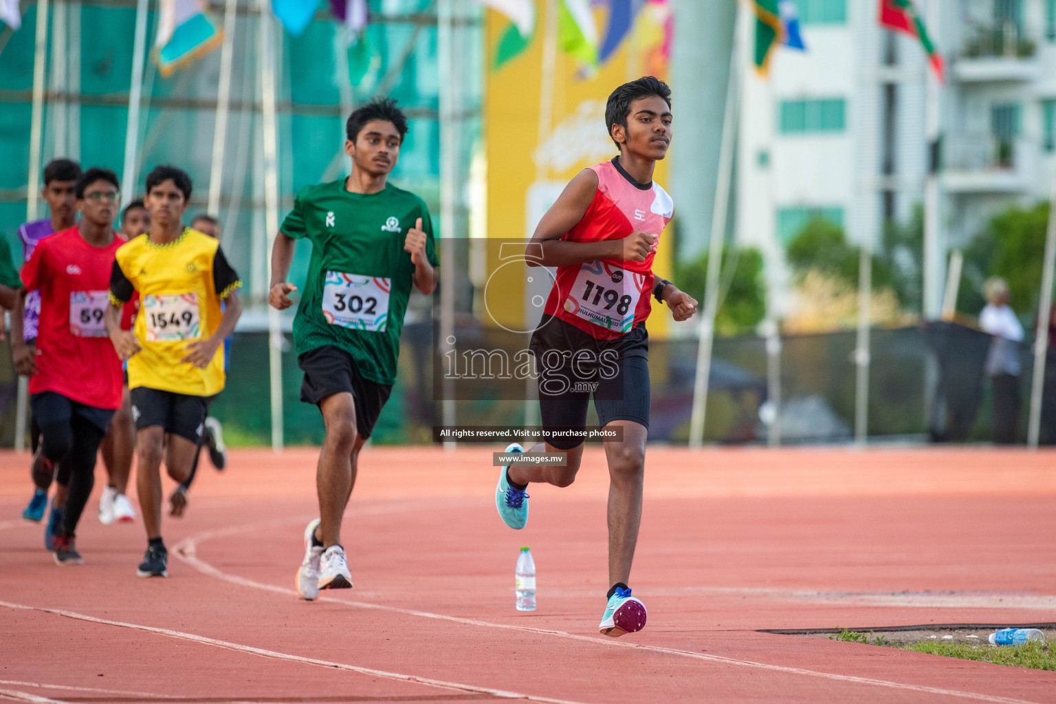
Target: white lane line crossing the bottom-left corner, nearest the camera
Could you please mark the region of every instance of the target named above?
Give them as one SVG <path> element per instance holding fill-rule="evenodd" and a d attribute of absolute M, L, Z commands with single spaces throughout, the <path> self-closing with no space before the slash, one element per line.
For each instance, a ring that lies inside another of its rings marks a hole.
<path fill-rule="evenodd" d="M 67 619 L 73 619 L 76 621 L 86 621 L 93 624 L 101 624 L 103 626 L 116 626 L 118 628 L 131 628 L 133 630 L 144 631 L 147 633 L 154 633 L 157 635 L 165 635 L 166 638 L 176 639 L 181 641 L 190 641 L 192 643 L 201 643 L 203 645 L 211 645 L 218 648 L 224 648 L 227 650 L 234 650 L 237 652 L 246 652 L 253 655 L 260 655 L 262 658 L 271 658 L 275 660 L 285 660 L 293 663 L 303 663 L 306 665 L 318 665 L 320 667 L 331 667 L 339 670 L 345 670 L 350 672 L 358 672 L 360 674 L 369 674 L 371 677 L 383 678 L 385 680 L 397 680 L 399 682 L 411 682 L 414 684 L 422 684 L 430 687 L 439 687 L 442 689 L 451 689 L 454 691 L 465 691 L 473 692 L 477 695 L 491 695 L 492 697 L 499 697 L 503 699 L 523 699 L 529 702 L 541 702 L 543 704 L 583 704 L 582 702 L 573 702 L 565 699 L 551 699 L 548 697 L 535 697 L 532 695 L 525 695 L 515 691 L 507 691 L 505 689 L 493 689 L 491 687 L 478 687 L 476 685 L 461 684 L 459 682 L 447 682 L 445 680 L 434 680 L 432 678 L 419 677 L 417 674 L 402 674 L 400 672 L 389 672 L 386 670 L 376 670 L 371 667 L 359 667 L 358 665 L 348 665 L 346 663 L 335 663 L 327 660 L 317 660 L 315 658 L 304 658 L 302 655 L 294 655 L 286 652 L 279 652 L 277 650 L 267 650 L 265 648 L 257 648 L 251 645 L 242 645 L 241 643 L 231 643 L 230 641 L 221 641 L 219 639 L 208 638 L 205 635 L 197 635 L 195 633 L 185 633 L 184 631 L 171 630 L 169 628 L 156 628 L 154 626 L 142 626 L 139 624 L 130 624 L 121 621 L 110 621 L 109 619 L 98 619 L 96 616 L 90 616 L 84 613 L 77 613 L 75 611 L 65 611 L 63 609 L 50 609 L 42 606 L 27 606 L 25 604 L 13 604 L 11 602 L 0 602 L 0 606 L 6 607 L 8 609 L 17 609 L 21 611 L 40 611 L 42 613 L 51 613 L 57 616 L 64 616 Z M 0 690 L 2 691 L 2 690 Z M 24 692 L 16 692 L 24 693 Z M 29 695 L 32 697 L 32 695 Z M 48 699 L 40 700 L 27 700 L 27 701 L 53 701 Z"/>

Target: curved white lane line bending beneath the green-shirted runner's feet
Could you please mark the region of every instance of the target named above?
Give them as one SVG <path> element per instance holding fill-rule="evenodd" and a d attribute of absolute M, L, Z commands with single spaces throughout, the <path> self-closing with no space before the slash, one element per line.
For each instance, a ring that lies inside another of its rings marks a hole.
<path fill-rule="evenodd" d="M 384 507 L 375 507 L 378 509 Z M 380 511 L 379 511 L 380 513 Z M 298 518 L 300 520 L 300 518 Z M 205 560 L 197 557 L 197 545 L 215 537 L 221 537 L 222 535 L 233 535 L 240 532 L 261 530 L 265 527 L 274 527 L 283 524 L 294 522 L 293 519 L 288 520 L 271 520 L 261 524 L 252 524 L 249 526 L 242 527 L 229 527 L 225 529 L 220 529 L 216 531 L 206 531 L 200 533 L 192 537 L 186 538 L 174 548 L 174 553 L 177 558 L 182 562 L 187 563 L 194 569 L 199 570 L 203 574 L 211 577 L 223 579 L 225 582 L 230 582 L 231 584 L 241 585 L 244 587 L 251 587 L 253 589 L 260 589 L 263 591 L 269 591 L 276 594 L 291 595 L 297 596 L 297 592 L 293 589 L 284 589 L 282 587 L 277 587 L 275 585 L 263 584 L 260 582 L 254 582 L 252 579 L 247 579 L 245 577 L 240 577 L 233 574 L 228 574 L 223 572 L 212 565 L 206 563 Z M 566 631 L 558 630 L 547 630 L 543 628 L 530 628 L 526 626 L 514 626 L 511 624 L 496 624 L 488 621 L 479 621 L 476 619 L 461 619 L 458 616 L 449 616 L 441 613 L 430 613 L 428 611 L 417 611 L 414 609 L 401 609 L 395 606 L 382 606 L 380 604 L 369 604 L 366 602 L 351 602 L 341 598 L 334 598 L 333 596 L 320 596 L 319 600 L 324 600 L 328 602 L 334 602 L 337 604 L 343 604 L 345 606 L 351 606 L 354 608 L 361 609 L 374 609 L 377 611 L 390 611 L 393 613 L 402 613 L 412 616 L 419 616 L 423 619 L 436 619 L 439 621 L 450 621 L 453 623 L 465 624 L 468 626 L 482 626 L 487 628 L 498 628 L 505 630 L 514 630 L 529 633 L 539 633 L 542 635 L 553 635 L 557 638 L 569 639 L 573 641 L 583 641 L 586 643 L 591 643 L 595 645 L 616 647 L 616 648 L 634 648 L 638 650 L 648 650 L 652 652 L 662 652 L 665 654 L 678 655 L 681 658 L 691 658 L 694 660 L 701 660 L 711 663 L 720 663 L 723 665 L 738 665 L 741 667 L 750 667 L 755 669 L 771 670 L 775 672 L 785 672 L 788 674 L 798 674 L 804 677 L 822 678 L 826 680 L 835 680 L 840 682 L 851 682 L 855 684 L 868 684 L 878 687 L 887 687 L 891 689 L 906 689 L 910 691 L 919 691 L 929 695 L 942 695 L 945 697 L 956 697 L 960 699 L 970 699 L 980 702 L 994 702 L 995 704 L 1036 704 L 1034 702 L 1029 702 L 1027 700 L 1020 699 L 1010 699 L 1007 697 L 995 697 L 992 695 L 983 695 L 978 692 L 961 691 L 957 689 L 943 689 L 940 687 L 929 687 L 927 685 L 914 685 L 906 684 L 902 682 L 891 682 L 888 680 L 875 680 L 872 678 L 861 678 L 851 674 L 835 674 L 832 672 L 822 672 L 818 670 L 808 670 L 799 667 L 788 667 L 785 665 L 770 665 L 767 663 L 758 663 L 751 660 L 738 660 L 736 658 L 723 658 L 722 655 L 709 655 L 699 652 L 693 652 L 691 650 L 680 650 L 677 648 L 665 648 L 656 645 L 643 645 L 639 643 L 627 643 L 625 641 L 616 641 L 614 639 L 603 639 L 601 636 L 590 636 L 590 635 L 580 635 L 578 633 L 568 633 Z M 317 601 L 319 601 L 317 600 Z"/>

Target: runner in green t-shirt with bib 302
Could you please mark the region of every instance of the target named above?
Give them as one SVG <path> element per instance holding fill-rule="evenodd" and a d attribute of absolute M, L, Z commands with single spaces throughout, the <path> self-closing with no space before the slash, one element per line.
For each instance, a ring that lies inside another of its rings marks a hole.
<path fill-rule="evenodd" d="M 352 587 L 341 516 L 356 481 L 359 451 L 371 436 L 396 379 L 399 334 L 411 287 L 436 288 L 439 262 L 425 202 L 388 183 L 407 117 L 392 99 L 359 108 L 345 126 L 352 175 L 301 190 L 271 250 L 268 302 L 293 305 L 286 281 L 298 240 L 312 261 L 294 319 L 294 345 L 304 370 L 301 400 L 319 406 L 326 440 L 319 453 L 319 518 L 304 529 L 297 591 Z"/>

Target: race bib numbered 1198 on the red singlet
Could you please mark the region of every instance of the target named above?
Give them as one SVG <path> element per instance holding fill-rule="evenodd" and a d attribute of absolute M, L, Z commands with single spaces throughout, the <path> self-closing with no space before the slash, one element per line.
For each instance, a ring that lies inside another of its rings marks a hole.
<path fill-rule="evenodd" d="M 628 332 L 642 293 L 636 281 L 640 275 L 605 262 L 587 262 L 565 298 L 565 310 L 595 325 Z"/>

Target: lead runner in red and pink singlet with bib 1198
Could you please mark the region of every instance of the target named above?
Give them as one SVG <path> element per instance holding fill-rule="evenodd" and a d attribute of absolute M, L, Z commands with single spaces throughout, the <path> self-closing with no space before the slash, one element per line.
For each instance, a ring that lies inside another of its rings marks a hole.
<path fill-rule="evenodd" d="M 608 603 L 599 630 L 619 636 L 641 630 L 645 606 L 630 594 L 630 564 L 642 515 L 645 439 L 649 424 L 647 365 L 650 297 L 675 320 L 697 302 L 653 274 L 653 258 L 671 222 L 671 196 L 653 182 L 672 138 L 671 89 L 652 76 L 616 89 L 605 122 L 620 150 L 585 169 L 540 221 L 526 250 L 529 266 L 555 266 L 530 350 L 536 358 L 543 426 L 551 435 L 529 453 L 567 453 L 563 467 L 509 464 L 495 505 L 507 526 L 528 519 L 527 484 L 567 487 L 583 457 L 582 437 L 554 437 L 586 425 L 591 397 L 599 424 L 622 437 L 604 442 L 608 460 Z M 517 444 L 507 452 L 520 452 Z"/>

